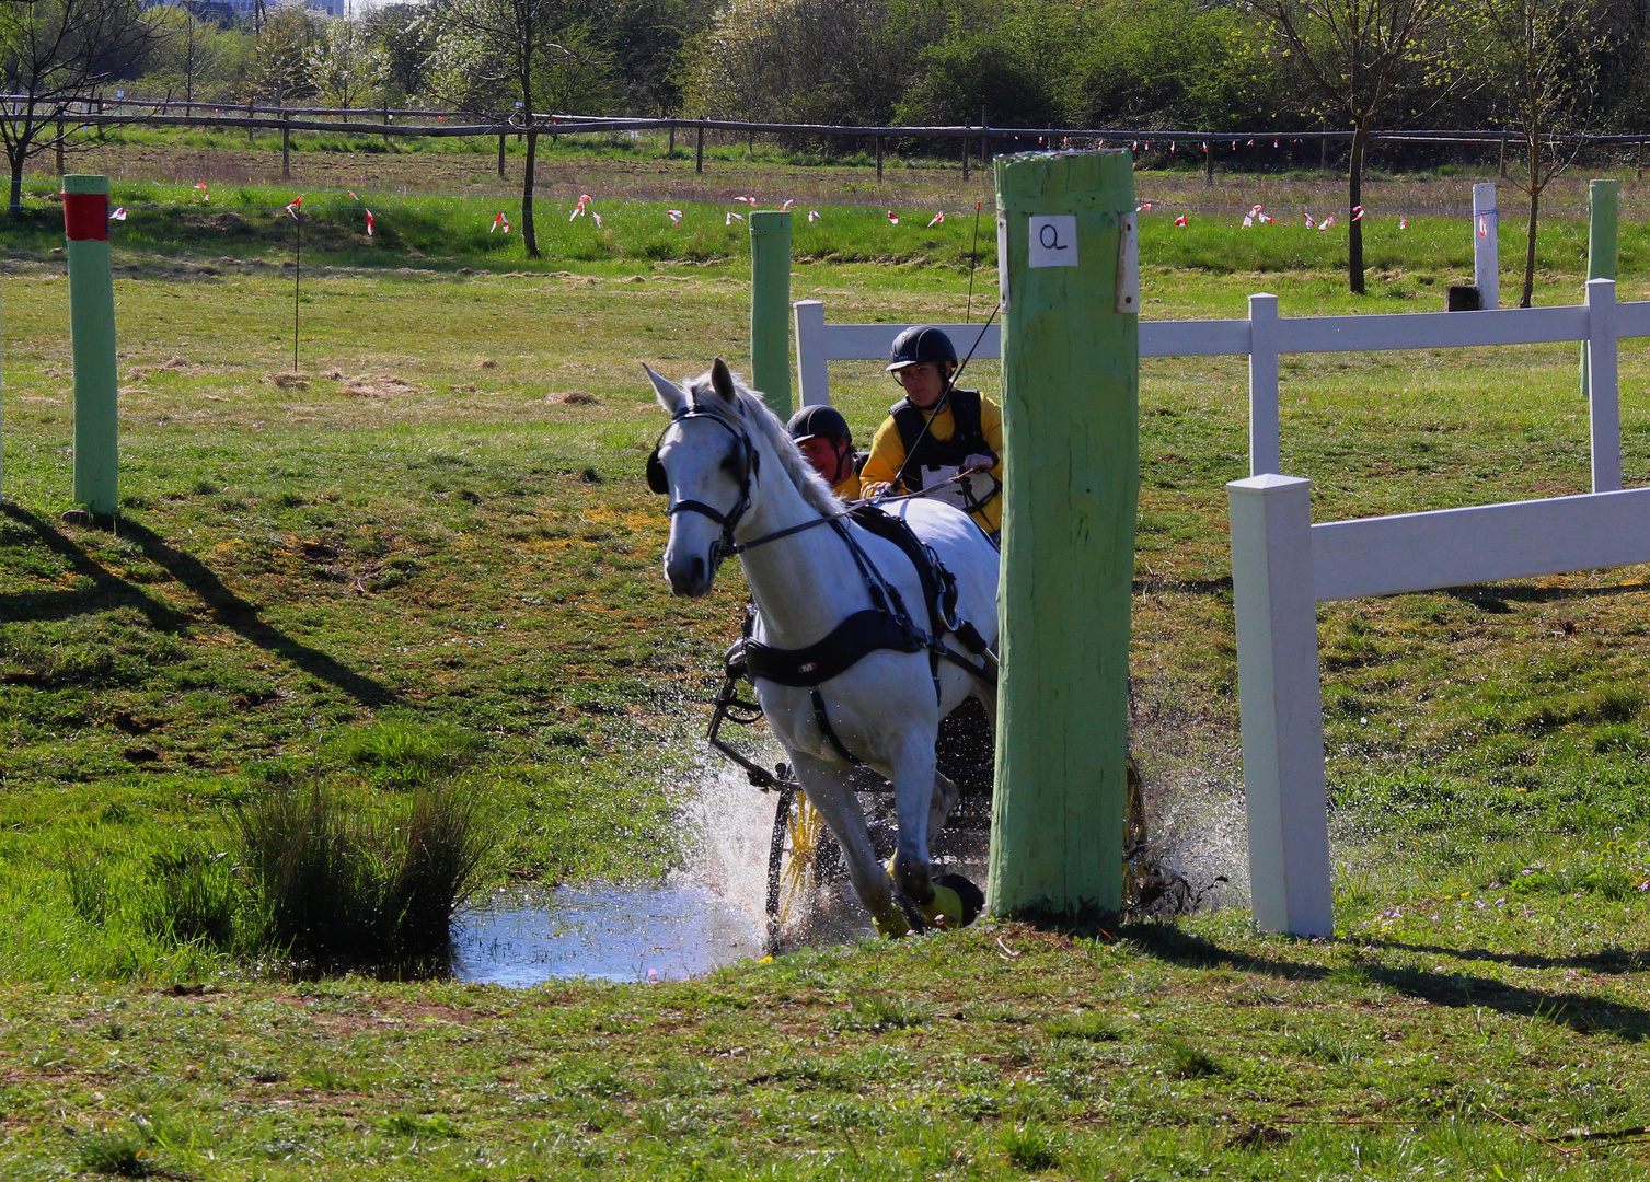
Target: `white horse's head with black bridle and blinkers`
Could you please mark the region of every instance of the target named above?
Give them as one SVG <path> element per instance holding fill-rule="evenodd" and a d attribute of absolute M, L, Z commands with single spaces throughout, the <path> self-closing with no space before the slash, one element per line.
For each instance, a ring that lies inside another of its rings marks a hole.
<path fill-rule="evenodd" d="M 751 508 L 762 455 L 721 358 L 686 391 L 644 369 L 670 414 L 670 425 L 647 458 L 648 486 L 670 498 L 665 580 L 676 595 L 708 595 L 716 569 L 731 552 L 733 531 Z"/>

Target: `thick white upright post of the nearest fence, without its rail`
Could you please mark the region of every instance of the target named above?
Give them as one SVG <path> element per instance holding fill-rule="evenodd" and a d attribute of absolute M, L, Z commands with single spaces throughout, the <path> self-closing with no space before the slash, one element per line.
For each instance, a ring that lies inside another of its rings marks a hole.
<path fill-rule="evenodd" d="M 1312 481 L 1269 473 L 1234 480 L 1226 495 L 1254 922 L 1264 931 L 1328 936 L 1335 913 Z"/>

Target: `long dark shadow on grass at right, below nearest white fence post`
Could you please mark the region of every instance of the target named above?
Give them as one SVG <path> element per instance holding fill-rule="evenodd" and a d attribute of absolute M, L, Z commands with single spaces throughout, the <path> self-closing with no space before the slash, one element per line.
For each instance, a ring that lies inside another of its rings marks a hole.
<path fill-rule="evenodd" d="M 1221 948 L 1213 940 L 1188 935 L 1167 923 L 1134 923 L 1117 931 L 1119 940 L 1140 948 L 1170 964 L 1185 968 L 1231 968 L 1239 973 L 1262 973 L 1289 981 L 1323 981 L 1333 969 L 1323 964 L 1297 964 L 1269 956 Z M 1402 945 L 1391 945 L 1402 948 Z M 1450 948 L 1426 951 L 1437 956 L 1464 956 Z M 1477 958 L 1475 955 L 1467 955 Z M 1564 961 L 1553 959 L 1554 966 Z M 1612 1034 L 1624 1042 L 1642 1042 L 1650 1037 L 1650 1011 L 1624 1006 L 1582 992 L 1544 992 L 1525 989 L 1493 978 L 1467 976 L 1464 973 L 1439 973 L 1421 968 L 1391 968 L 1360 961 L 1358 973 L 1374 984 L 1386 986 L 1406 997 L 1434 1006 L 1483 1007 L 1502 1014 L 1539 1017 L 1556 1025 L 1566 1025 L 1577 1034 Z"/>

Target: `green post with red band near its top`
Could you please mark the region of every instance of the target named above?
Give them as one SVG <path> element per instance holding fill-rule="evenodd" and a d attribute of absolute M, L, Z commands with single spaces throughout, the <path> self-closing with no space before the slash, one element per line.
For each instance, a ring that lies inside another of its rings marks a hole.
<path fill-rule="evenodd" d="M 109 516 L 119 503 L 114 270 L 109 262 L 109 178 L 63 178 L 69 239 L 69 331 L 74 340 L 74 501 Z"/>

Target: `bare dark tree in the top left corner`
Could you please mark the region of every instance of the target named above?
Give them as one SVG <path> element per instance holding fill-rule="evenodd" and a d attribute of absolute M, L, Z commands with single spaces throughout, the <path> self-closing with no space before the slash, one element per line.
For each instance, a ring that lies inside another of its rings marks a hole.
<path fill-rule="evenodd" d="M 158 36 L 142 0 L 0 0 L 0 112 L 12 167 L 8 213 L 23 209 L 23 168 L 74 132 L 69 120 L 124 76 Z"/>

